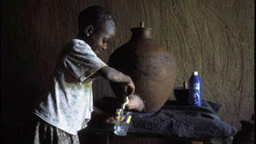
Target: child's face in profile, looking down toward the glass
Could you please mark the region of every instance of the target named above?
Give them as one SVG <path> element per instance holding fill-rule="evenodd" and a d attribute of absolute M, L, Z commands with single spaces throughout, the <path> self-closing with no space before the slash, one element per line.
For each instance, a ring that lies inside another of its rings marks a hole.
<path fill-rule="evenodd" d="M 108 47 L 108 42 L 115 36 L 115 27 L 108 27 L 105 31 L 95 31 L 90 37 L 90 47 L 96 55 L 102 53 Z"/>

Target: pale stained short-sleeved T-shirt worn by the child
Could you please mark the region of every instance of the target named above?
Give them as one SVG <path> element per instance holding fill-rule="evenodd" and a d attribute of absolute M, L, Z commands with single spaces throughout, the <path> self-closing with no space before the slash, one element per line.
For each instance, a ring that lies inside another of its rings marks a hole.
<path fill-rule="evenodd" d="M 73 39 L 35 114 L 72 135 L 84 129 L 93 111 L 92 81 L 96 71 L 107 66 L 84 41 Z"/>

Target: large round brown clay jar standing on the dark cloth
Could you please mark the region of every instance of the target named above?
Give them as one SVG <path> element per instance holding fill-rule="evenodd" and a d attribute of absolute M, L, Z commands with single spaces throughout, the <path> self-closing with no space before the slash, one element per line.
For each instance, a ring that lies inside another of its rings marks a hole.
<path fill-rule="evenodd" d="M 128 43 L 116 49 L 108 60 L 108 66 L 130 76 L 135 84 L 135 95 L 145 104 L 145 112 L 156 112 L 172 93 L 176 77 L 176 60 L 164 47 L 152 39 L 152 29 L 131 29 Z M 119 84 L 110 83 L 120 99 L 124 96 Z"/>

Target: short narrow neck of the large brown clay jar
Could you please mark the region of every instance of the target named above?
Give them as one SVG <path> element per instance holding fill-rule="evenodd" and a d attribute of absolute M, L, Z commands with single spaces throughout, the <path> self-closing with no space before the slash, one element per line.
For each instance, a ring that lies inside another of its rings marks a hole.
<path fill-rule="evenodd" d="M 136 27 L 131 29 L 131 40 L 152 39 L 152 28 Z"/>

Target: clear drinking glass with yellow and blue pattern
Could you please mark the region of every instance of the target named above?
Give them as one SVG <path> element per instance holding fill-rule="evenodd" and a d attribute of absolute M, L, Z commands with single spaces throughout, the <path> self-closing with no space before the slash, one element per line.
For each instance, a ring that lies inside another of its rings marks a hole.
<path fill-rule="evenodd" d="M 131 121 L 131 113 L 132 112 L 125 112 L 123 109 L 116 110 L 116 122 L 113 127 L 113 133 L 115 135 L 127 135 L 129 123 Z"/>

